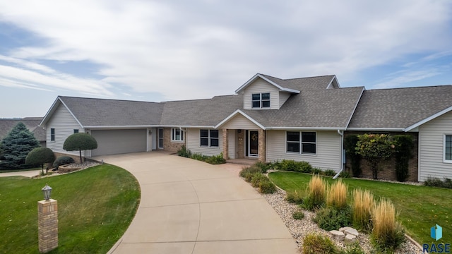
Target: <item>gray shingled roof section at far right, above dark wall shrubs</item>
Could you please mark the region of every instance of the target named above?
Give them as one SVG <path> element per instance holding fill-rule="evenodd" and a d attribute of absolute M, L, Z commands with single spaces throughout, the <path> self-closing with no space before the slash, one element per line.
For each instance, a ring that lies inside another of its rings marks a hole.
<path fill-rule="evenodd" d="M 366 90 L 349 128 L 407 128 L 452 106 L 452 85 Z"/>

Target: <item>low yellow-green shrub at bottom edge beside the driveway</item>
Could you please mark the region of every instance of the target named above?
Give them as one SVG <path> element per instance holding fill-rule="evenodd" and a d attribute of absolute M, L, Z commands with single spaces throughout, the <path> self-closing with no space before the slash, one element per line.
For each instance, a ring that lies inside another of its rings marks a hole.
<path fill-rule="evenodd" d="M 300 250 L 304 254 L 334 254 L 337 253 L 337 247 L 328 236 L 321 234 L 308 234 L 303 238 L 303 245 Z"/>

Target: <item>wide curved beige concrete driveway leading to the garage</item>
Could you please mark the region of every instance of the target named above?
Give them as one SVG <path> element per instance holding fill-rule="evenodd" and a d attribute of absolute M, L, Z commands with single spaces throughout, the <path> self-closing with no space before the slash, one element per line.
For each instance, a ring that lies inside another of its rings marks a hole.
<path fill-rule="evenodd" d="M 161 152 L 95 159 L 141 186 L 136 217 L 109 253 L 297 253 L 268 202 L 224 167 Z"/>

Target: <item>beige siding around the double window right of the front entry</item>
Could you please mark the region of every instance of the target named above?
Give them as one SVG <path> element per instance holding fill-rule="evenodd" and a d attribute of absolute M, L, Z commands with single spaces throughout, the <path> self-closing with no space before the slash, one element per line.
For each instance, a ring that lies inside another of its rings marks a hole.
<path fill-rule="evenodd" d="M 286 131 L 266 131 L 268 162 L 293 159 L 309 162 L 322 170 L 340 170 L 340 135 L 335 131 L 316 131 L 316 155 L 301 155 L 286 152 Z"/>

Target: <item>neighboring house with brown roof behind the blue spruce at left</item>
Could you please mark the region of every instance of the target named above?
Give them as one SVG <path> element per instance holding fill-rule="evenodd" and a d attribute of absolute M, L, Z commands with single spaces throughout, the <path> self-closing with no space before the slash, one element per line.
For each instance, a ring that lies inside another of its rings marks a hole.
<path fill-rule="evenodd" d="M 6 137 L 8 133 L 16 126 L 19 122 L 22 122 L 27 126 L 28 130 L 35 135 L 37 141 L 40 142 L 42 147 L 45 147 L 46 137 L 45 131 L 39 125 L 42 121 L 42 117 L 25 117 L 18 119 L 0 119 L 0 140 Z"/>

